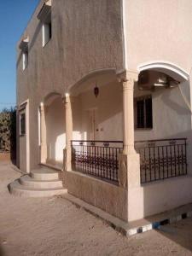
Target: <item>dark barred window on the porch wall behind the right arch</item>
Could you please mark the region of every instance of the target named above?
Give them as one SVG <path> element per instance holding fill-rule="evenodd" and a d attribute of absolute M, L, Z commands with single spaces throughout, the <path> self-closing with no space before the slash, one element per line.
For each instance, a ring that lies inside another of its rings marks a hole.
<path fill-rule="evenodd" d="M 153 128 L 152 97 L 144 96 L 137 98 L 135 102 L 135 124 L 136 128 Z"/>

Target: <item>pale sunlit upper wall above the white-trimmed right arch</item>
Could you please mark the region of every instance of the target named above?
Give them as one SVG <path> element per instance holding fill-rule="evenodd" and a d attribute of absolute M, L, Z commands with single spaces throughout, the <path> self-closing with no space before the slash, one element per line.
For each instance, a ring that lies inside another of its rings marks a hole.
<path fill-rule="evenodd" d="M 190 72 L 190 0 L 125 0 L 126 62 L 136 70 L 148 61 L 170 61 Z"/>

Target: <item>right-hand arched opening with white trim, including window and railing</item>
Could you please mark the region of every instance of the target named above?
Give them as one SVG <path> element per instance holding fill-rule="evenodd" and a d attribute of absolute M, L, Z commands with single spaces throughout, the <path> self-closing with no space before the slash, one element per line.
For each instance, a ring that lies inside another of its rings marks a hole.
<path fill-rule="evenodd" d="M 140 65 L 138 71 L 134 115 L 141 181 L 184 175 L 191 127 L 189 75 L 160 61 Z"/>

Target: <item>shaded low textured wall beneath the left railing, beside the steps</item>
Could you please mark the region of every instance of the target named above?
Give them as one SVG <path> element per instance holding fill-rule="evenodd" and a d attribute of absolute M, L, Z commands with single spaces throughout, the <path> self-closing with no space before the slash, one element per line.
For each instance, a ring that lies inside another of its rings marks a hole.
<path fill-rule="evenodd" d="M 69 194 L 78 196 L 95 207 L 127 221 L 125 189 L 79 172 L 65 172 L 64 175 Z"/>

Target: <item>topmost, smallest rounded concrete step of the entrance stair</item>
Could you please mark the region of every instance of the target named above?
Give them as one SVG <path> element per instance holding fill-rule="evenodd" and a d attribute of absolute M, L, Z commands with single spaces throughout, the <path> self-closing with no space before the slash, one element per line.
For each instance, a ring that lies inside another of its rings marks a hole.
<path fill-rule="evenodd" d="M 37 170 L 32 170 L 32 172 L 30 172 L 29 175 L 30 177 L 36 180 L 42 180 L 42 181 L 59 179 L 58 172 L 45 167 Z"/>

